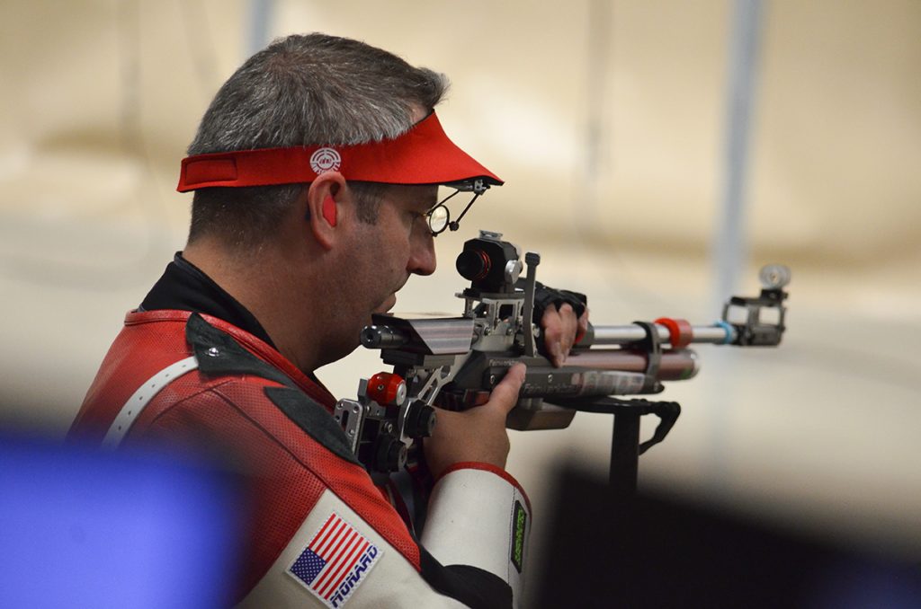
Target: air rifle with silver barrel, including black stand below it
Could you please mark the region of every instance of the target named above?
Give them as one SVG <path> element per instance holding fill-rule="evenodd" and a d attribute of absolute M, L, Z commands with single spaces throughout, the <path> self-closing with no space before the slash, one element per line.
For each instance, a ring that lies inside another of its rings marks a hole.
<path fill-rule="evenodd" d="M 519 247 L 502 235 L 481 231 L 464 244 L 457 269 L 471 282 L 456 294 L 463 314 L 408 319 L 373 316 L 361 342 L 379 349 L 391 373 L 362 379 L 356 400 L 336 404 L 352 450 L 372 474 L 397 471 L 408 449 L 431 435 L 435 408 L 466 409 L 486 401 L 516 362 L 528 366 L 519 402 L 507 418 L 514 430 L 562 429 L 578 410 L 614 414 L 612 482 L 635 488 L 636 458 L 661 442 L 678 418 L 675 402 L 619 396 L 658 394 L 664 382 L 694 376 L 693 343 L 773 347 L 783 337 L 790 279 L 787 267 L 761 270 L 758 296 L 732 296 L 720 321 L 692 326 L 683 319 L 659 318 L 626 326 L 593 326 L 555 368 L 539 350 L 540 327 L 532 322 L 538 254 L 521 261 Z M 525 277 L 521 277 L 527 265 Z M 652 439 L 639 442 L 639 418 L 660 422 Z"/>

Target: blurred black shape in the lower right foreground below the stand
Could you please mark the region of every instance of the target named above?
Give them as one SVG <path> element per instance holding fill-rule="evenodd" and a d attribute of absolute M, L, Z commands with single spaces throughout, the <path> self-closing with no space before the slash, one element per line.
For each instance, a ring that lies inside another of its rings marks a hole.
<path fill-rule="evenodd" d="M 537 607 L 921 607 L 914 554 L 641 491 L 574 468 L 533 557 Z"/>

